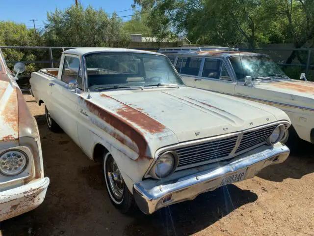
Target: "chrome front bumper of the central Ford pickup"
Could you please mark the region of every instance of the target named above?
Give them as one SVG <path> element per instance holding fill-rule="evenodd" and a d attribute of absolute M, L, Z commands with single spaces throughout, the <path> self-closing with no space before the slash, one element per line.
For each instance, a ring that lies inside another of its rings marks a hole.
<path fill-rule="evenodd" d="M 152 179 L 135 183 L 133 185 L 135 202 L 145 214 L 151 214 L 159 208 L 193 200 L 201 193 L 212 191 L 222 185 L 224 177 L 237 171 L 246 170 L 244 179 L 252 178 L 266 166 L 284 162 L 290 152 L 288 147 L 280 143 L 269 148 L 271 147 L 266 145 L 255 148 L 235 157 L 226 165 L 196 174 L 184 176 L 186 170 L 179 171 L 183 175 L 176 179 L 164 180 L 162 183 L 160 180 Z"/>

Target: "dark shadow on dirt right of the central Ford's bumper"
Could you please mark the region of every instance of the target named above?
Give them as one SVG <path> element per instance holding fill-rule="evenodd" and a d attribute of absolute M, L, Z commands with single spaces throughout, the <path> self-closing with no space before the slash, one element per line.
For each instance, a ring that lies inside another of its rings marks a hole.
<path fill-rule="evenodd" d="M 301 141 L 297 153 L 290 153 L 288 159 L 279 165 L 264 168 L 258 177 L 282 182 L 286 178 L 300 179 L 314 172 L 314 144 Z"/>

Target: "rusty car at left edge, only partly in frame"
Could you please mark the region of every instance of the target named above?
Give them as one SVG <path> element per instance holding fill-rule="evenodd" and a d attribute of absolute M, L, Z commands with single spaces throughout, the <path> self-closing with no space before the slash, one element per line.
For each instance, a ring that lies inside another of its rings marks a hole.
<path fill-rule="evenodd" d="M 15 65 L 17 74 L 24 69 Z M 0 221 L 38 207 L 49 185 L 37 123 L 16 79 L 0 51 Z"/>

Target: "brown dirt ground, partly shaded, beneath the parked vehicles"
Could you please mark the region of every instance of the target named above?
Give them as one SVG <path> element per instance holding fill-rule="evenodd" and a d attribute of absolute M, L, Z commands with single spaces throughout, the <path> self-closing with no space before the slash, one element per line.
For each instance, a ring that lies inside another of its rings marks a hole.
<path fill-rule="evenodd" d="M 301 236 L 314 235 L 314 145 L 252 179 L 221 187 L 152 215 L 125 216 L 110 203 L 101 166 L 64 133 L 47 128 L 44 106 L 30 95 L 42 141 L 45 201 L 0 223 L 3 236 Z"/>

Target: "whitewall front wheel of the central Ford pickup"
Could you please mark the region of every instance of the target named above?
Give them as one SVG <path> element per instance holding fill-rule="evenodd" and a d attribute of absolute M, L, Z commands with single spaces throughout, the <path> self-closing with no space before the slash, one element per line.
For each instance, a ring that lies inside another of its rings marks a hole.
<path fill-rule="evenodd" d="M 125 184 L 117 163 L 108 152 L 103 157 L 106 189 L 111 203 L 122 213 L 132 213 L 136 207 L 133 195 Z"/>

